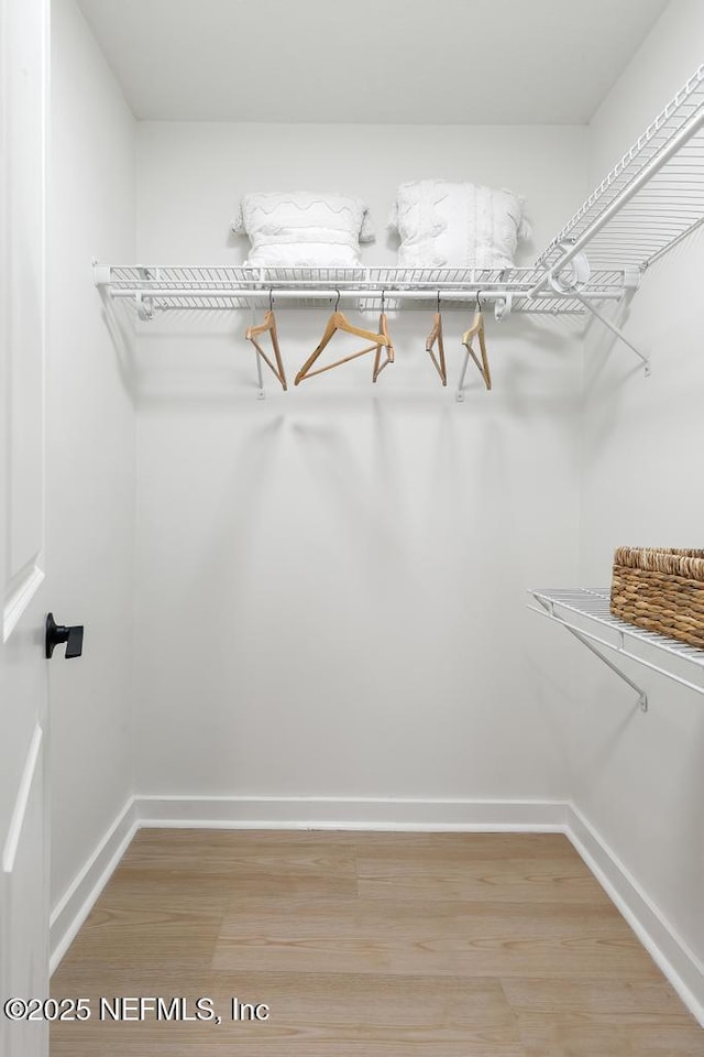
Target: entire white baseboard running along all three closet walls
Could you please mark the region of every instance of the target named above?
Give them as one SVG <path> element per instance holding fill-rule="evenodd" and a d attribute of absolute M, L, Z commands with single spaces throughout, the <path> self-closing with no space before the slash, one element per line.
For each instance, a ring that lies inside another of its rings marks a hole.
<path fill-rule="evenodd" d="M 701 961 L 584 816 L 574 806 L 559 800 L 133 797 L 52 914 L 52 972 L 135 831 L 142 827 L 565 833 L 684 1004 L 704 1026 L 704 967 Z"/>

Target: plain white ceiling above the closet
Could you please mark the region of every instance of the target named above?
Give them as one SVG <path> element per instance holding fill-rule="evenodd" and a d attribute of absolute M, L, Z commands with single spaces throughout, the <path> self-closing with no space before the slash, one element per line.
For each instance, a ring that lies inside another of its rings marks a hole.
<path fill-rule="evenodd" d="M 668 0 L 78 0 L 135 116 L 588 121 Z"/>

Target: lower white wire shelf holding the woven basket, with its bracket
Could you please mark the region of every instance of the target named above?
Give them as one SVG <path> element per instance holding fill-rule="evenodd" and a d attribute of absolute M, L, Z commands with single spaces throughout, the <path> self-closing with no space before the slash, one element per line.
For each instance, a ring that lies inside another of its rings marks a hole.
<path fill-rule="evenodd" d="M 535 588 L 530 595 L 538 604 L 528 608 L 534 613 L 562 624 L 592 653 L 595 653 L 637 691 L 644 711 L 648 710 L 646 691 L 597 646 L 603 646 L 617 656 L 636 661 L 697 694 L 704 694 L 704 650 L 688 646 L 683 642 L 678 642 L 676 639 L 669 639 L 653 631 L 646 631 L 612 615 L 608 588 Z M 653 660 L 658 655 L 662 658 L 660 664 Z M 685 662 L 690 672 L 701 682 L 693 682 L 673 671 L 672 667 L 666 667 L 664 664 L 669 660 L 674 661 L 675 664 Z"/>

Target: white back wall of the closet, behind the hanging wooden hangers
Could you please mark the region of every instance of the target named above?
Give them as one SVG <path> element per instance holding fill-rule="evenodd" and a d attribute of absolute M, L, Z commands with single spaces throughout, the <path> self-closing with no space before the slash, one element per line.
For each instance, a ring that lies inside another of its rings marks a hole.
<path fill-rule="evenodd" d="M 393 263 L 395 188 L 433 174 L 525 194 L 530 257 L 584 196 L 585 134 L 143 123 L 139 259 L 237 263 L 239 196 L 312 187 L 364 197 Z M 326 318 L 278 314 L 289 378 Z M 568 671 L 537 678 L 525 590 L 576 575 L 579 329 L 490 322 L 495 390 L 460 405 L 403 313 L 374 389 L 358 361 L 257 402 L 249 322 L 140 328 L 139 792 L 566 797 Z"/>

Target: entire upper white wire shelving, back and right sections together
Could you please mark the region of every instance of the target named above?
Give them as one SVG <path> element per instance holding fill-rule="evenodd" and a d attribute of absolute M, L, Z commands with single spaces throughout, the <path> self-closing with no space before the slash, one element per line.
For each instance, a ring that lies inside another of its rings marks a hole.
<path fill-rule="evenodd" d="M 251 269 L 233 265 L 95 265 L 96 285 L 142 319 L 169 309 L 312 307 L 339 294 L 362 309 L 459 308 L 591 313 L 649 371 L 648 357 L 597 307 L 635 290 L 645 269 L 704 222 L 704 65 L 658 115 L 529 268 Z"/>

